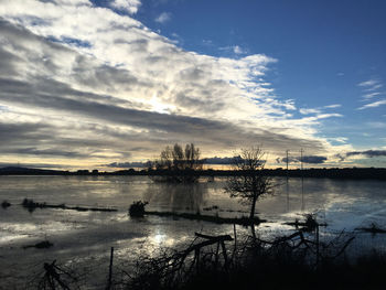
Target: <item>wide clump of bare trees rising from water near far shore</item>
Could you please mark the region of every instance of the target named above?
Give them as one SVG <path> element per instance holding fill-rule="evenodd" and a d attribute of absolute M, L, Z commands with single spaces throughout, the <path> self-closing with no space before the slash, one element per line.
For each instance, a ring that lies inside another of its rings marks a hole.
<path fill-rule="evenodd" d="M 178 143 L 167 147 L 160 153 L 160 159 L 153 162 L 153 168 L 163 173 L 164 181 L 194 182 L 199 179 L 196 171 L 202 170 L 200 149 L 187 143 L 185 149 Z"/>

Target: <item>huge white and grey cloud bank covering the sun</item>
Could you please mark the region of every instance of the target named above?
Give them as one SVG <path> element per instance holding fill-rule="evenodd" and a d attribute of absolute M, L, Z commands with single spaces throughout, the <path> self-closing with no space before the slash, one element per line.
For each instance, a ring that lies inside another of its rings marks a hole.
<path fill-rule="evenodd" d="M 140 6 L 111 3 L 133 7 L 128 13 Z M 192 140 L 205 155 L 254 143 L 277 153 L 337 150 L 315 128 L 340 115 L 291 117 L 294 101 L 265 79 L 277 62 L 265 54 L 184 51 L 130 15 L 85 0 L 6 1 L 0 18 L 1 160 L 137 162 Z"/>

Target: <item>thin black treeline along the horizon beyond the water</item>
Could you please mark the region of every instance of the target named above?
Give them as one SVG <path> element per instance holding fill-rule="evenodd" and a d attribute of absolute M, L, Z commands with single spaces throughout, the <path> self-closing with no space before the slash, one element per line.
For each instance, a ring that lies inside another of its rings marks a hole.
<path fill-rule="evenodd" d="M 42 170 L 29 168 L 2 168 L 0 175 L 170 175 L 174 174 L 168 170 L 120 170 L 114 172 L 99 172 L 97 170 L 78 170 L 78 171 L 60 171 Z M 240 174 L 239 171 L 233 170 L 186 170 L 179 174 L 200 175 L 200 176 L 229 176 Z M 373 179 L 386 180 L 385 168 L 331 168 L 331 169 L 304 169 L 304 170 L 285 170 L 285 169 L 265 169 L 261 174 L 269 176 L 289 176 L 289 178 L 329 178 L 329 179 Z"/>

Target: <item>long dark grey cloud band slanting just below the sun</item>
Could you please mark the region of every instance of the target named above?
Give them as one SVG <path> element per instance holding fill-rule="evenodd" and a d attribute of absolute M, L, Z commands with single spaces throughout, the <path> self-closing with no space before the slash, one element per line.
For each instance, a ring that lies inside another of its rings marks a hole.
<path fill-rule="evenodd" d="M 76 114 L 99 120 L 103 119 L 107 122 L 150 130 L 162 130 L 172 132 L 172 135 L 180 133 L 184 138 L 201 137 L 204 142 L 225 142 L 232 146 L 239 140 L 246 143 L 255 143 L 262 140 L 267 147 L 288 146 L 289 143 L 304 144 L 304 147 L 321 147 L 318 142 L 290 138 L 264 130 L 246 131 L 235 125 L 223 121 L 136 110 L 92 101 L 92 99 L 104 101 L 106 97 L 79 92 L 66 84 L 52 79 L 35 79 L 35 82 L 36 84 L 32 85 L 25 82 L 2 78 L 0 79 L 0 86 L 2 87 L 0 97 L 9 104 L 50 108 L 66 111 L 68 115 Z"/>

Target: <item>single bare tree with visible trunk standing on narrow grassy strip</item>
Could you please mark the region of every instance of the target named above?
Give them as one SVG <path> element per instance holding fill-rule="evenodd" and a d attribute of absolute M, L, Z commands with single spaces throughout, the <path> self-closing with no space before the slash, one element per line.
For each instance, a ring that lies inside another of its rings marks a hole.
<path fill-rule="evenodd" d="M 234 158 L 235 172 L 227 179 L 225 186 L 230 197 L 239 197 L 243 204 L 250 205 L 250 219 L 255 217 L 257 200 L 271 193 L 274 187 L 272 179 L 262 174 L 265 155 L 260 147 L 242 149 L 240 154 Z"/>

